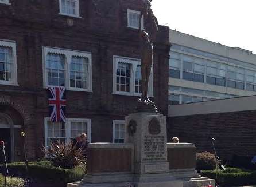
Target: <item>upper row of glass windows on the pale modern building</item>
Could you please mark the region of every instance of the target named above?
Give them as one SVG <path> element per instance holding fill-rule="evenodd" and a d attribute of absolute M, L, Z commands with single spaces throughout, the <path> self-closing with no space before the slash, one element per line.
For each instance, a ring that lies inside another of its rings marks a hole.
<path fill-rule="evenodd" d="M 173 48 L 174 47 L 174 48 Z M 177 51 L 170 51 L 169 77 L 184 79 L 187 81 L 207 83 L 210 85 L 231 87 L 239 90 L 256 91 L 256 66 L 249 63 L 236 61 L 234 59 L 220 57 L 218 55 L 204 53 L 203 51 L 188 49 L 184 46 L 172 46 L 172 49 L 183 50 L 207 58 L 218 59 L 226 63 L 215 62 L 214 60 L 194 57 L 188 54 L 181 54 Z M 243 65 L 246 68 L 236 67 Z M 253 70 L 255 69 L 255 71 Z"/>

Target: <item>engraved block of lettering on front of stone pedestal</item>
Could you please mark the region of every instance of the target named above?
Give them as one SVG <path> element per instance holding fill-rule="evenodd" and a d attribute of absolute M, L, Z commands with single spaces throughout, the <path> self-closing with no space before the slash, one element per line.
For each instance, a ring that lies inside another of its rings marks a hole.
<path fill-rule="evenodd" d="M 165 161 L 165 136 L 144 136 L 142 161 Z"/>

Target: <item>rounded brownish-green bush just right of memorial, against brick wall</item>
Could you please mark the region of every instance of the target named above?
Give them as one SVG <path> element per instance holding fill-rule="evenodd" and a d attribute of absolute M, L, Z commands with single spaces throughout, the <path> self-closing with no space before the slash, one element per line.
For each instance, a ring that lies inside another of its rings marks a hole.
<path fill-rule="evenodd" d="M 197 170 L 212 170 L 216 168 L 216 164 L 220 164 L 220 161 L 216 160 L 214 154 L 209 152 L 196 153 Z"/>

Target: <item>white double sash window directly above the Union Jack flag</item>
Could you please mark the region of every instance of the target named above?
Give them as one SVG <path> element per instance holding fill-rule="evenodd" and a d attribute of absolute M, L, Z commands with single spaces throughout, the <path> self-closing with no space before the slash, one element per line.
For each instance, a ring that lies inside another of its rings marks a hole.
<path fill-rule="evenodd" d="M 63 86 L 67 90 L 92 91 L 91 53 L 42 47 L 44 87 Z"/>

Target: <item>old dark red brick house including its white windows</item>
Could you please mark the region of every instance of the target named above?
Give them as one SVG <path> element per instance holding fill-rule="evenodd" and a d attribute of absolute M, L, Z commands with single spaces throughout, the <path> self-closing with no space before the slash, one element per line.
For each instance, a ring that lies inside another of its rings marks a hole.
<path fill-rule="evenodd" d="M 123 120 L 140 87 L 141 1 L 0 1 L 0 137 L 9 161 L 29 159 L 53 140 L 86 132 L 91 142 L 122 142 Z M 149 86 L 168 113 L 169 28 L 160 26 Z M 67 122 L 49 122 L 48 86 L 67 89 Z"/>

